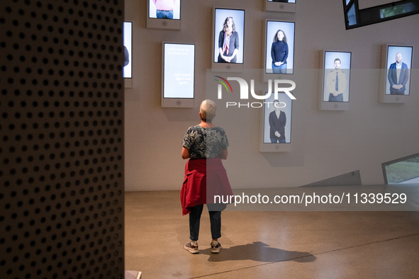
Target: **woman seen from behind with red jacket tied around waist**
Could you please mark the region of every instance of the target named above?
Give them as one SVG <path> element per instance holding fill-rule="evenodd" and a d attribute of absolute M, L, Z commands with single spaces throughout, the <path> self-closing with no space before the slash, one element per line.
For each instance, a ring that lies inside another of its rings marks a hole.
<path fill-rule="evenodd" d="M 223 128 L 212 124 L 216 116 L 216 103 L 205 100 L 201 103 L 201 123 L 189 127 L 182 142 L 181 156 L 189 159 L 185 166 L 184 183 L 180 198 L 182 214 L 189 213 L 189 239 L 184 249 L 199 253 L 199 223 L 203 205 L 206 204 L 211 222 L 211 253 L 220 253 L 221 210 L 225 205 L 215 195 L 233 195 L 221 159 L 227 159 L 228 139 Z"/>

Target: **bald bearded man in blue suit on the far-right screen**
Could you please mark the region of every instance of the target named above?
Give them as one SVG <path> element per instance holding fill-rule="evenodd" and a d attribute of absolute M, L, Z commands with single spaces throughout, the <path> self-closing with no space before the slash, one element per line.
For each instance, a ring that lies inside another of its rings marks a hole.
<path fill-rule="evenodd" d="M 396 62 L 392 63 L 387 75 L 390 83 L 390 95 L 404 95 L 409 79 L 408 65 L 403 63 L 401 52 L 396 54 Z"/>

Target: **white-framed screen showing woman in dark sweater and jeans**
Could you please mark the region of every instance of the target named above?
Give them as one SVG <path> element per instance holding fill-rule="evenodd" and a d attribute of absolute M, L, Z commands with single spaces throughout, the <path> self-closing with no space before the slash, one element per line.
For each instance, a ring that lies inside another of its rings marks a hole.
<path fill-rule="evenodd" d="M 263 80 L 294 74 L 295 23 L 266 20 L 263 32 Z"/>

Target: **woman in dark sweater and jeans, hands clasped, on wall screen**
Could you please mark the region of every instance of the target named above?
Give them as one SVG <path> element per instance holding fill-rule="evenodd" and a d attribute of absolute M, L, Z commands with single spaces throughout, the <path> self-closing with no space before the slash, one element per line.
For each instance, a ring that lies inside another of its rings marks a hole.
<path fill-rule="evenodd" d="M 286 74 L 286 58 L 288 58 L 288 44 L 283 30 L 279 29 L 274 35 L 271 47 L 272 71 L 276 74 Z"/>

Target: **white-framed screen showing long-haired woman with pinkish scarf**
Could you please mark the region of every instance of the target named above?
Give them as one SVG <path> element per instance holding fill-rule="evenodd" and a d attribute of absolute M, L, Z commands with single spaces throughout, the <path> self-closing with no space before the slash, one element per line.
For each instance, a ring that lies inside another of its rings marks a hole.
<path fill-rule="evenodd" d="M 212 69 L 242 72 L 245 10 L 213 8 Z"/>

